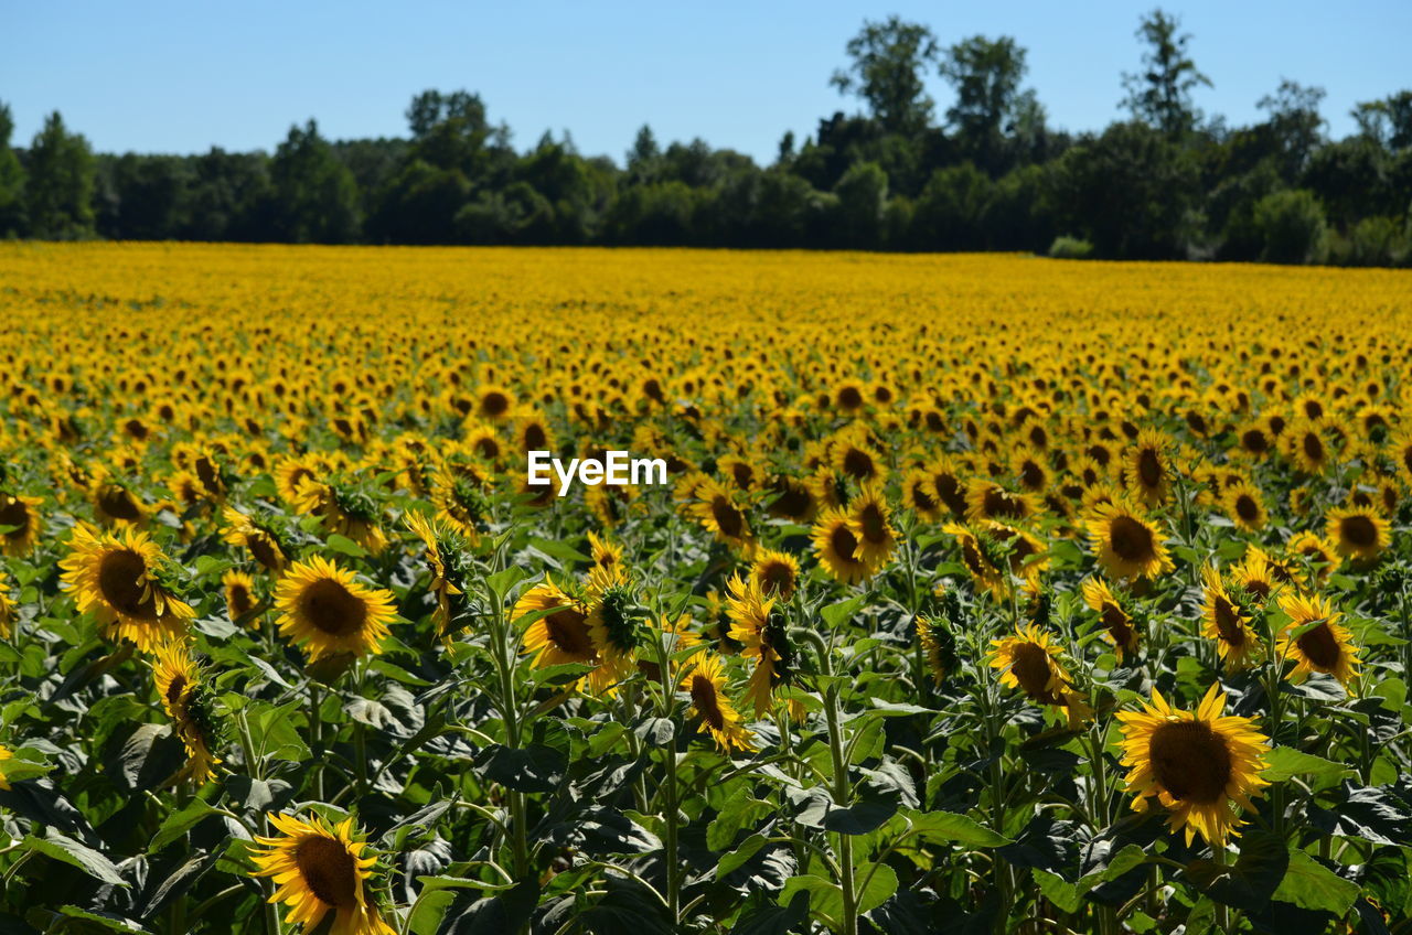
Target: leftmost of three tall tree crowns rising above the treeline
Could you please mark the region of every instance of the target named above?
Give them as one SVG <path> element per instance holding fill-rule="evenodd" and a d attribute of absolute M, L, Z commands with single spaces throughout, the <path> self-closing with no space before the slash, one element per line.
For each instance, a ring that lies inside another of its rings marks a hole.
<path fill-rule="evenodd" d="M 939 52 L 929 28 L 897 16 L 885 23 L 864 21 L 846 49 L 853 64 L 829 81 L 839 93 L 866 100 L 888 133 L 912 134 L 928 126 L 933 102 L 926 96 L 922 75 Z"/>

